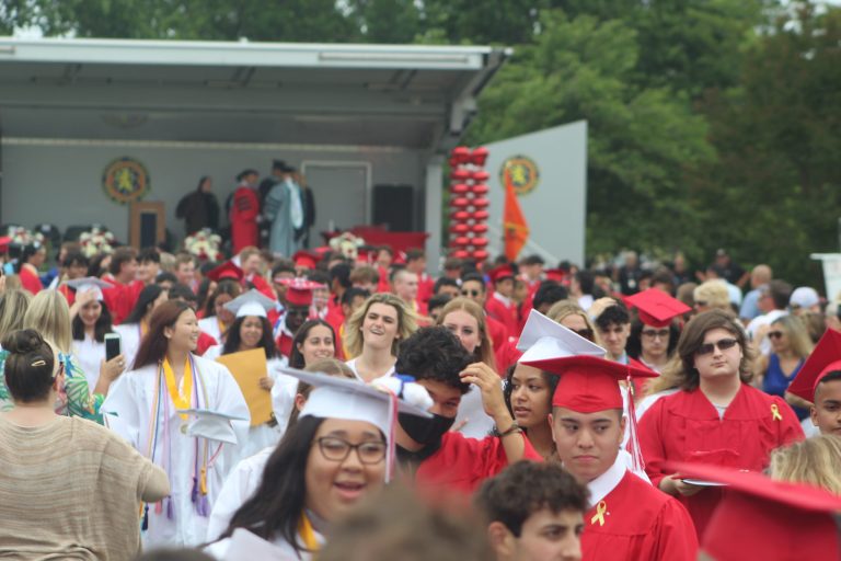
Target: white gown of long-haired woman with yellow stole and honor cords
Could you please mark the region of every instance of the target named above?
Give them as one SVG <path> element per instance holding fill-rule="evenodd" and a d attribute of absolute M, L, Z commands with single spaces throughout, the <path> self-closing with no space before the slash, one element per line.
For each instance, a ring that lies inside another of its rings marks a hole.
<path fill-rule="evenodd" d="M 237 438 L 244 442 L 249 427 L 249 408 L 233 376 L 219 363 L 199 356 L 193 356 L 193 359 L 196 381 L 192 407 L 245 419 L 231 422 Z M 143 547 L 197 546 L 205 540 L 210 510 L 233 466 L 238 445 L 222 445 L 218 440 L 186 436 L 183 432 L 186 422 L 176 413 L 165 380 L 159 385 L 158 370 L 157 365 L 149 365 L 120 376 L 102 404 L 103 417 L 108 427 L 142 455 L 152 457 L 154 463 L 163 467 L 170 477 L 172 496 L 162 501 L 161 512 L 158 512 L 158 504 L 149 505 L 148 529 L 142 531 Z M 155 393 L 160 398 L 160 405 L 153 413 Z M 157 423 L 150 422 L 153 414 Z M 157 431 L 152 430 L 154 426 Z M 154 445 L 152 432 L 158 435 Z M 196 472 L 196 446 L 200 467 L 206 444 L 209 456 L 216 454 L 220 445 L 222 447 L 216 460 L 207 468 L 208 508 L 207 514 L 201 516 L 192 501 L 192 491 Z M 153 454 L 150 454 L 150 449 Z M 168 517 L 168 508 L 172 511 L 172 518 Z"/>

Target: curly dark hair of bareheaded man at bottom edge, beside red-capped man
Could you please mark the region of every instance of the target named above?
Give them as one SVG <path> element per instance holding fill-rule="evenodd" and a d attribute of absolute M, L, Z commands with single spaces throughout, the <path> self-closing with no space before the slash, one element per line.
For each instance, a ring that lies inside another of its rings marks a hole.
<path fill-rule="evenodd" d="M 500 522 L 519 537 L 529 516 L 543 508 L 584 514 L 588 495 L 587 486 L 558 463 L 518 461 L 486 480 L 475 503 L 488 522 Z"/>

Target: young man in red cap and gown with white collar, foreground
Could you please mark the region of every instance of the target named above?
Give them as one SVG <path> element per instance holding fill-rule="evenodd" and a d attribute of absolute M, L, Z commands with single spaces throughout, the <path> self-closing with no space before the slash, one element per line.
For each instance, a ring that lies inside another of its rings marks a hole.
<path fill-rule="evenodd" d="M 695 561 L 698 538 L 676 499 L 632 473 L 619 455 L 625 423 L 619 381 L 656 376 L 596 356 L 523 362 L 560 376 L 552 437 L 564 468 L 587 484 L 585 561 Z"/>

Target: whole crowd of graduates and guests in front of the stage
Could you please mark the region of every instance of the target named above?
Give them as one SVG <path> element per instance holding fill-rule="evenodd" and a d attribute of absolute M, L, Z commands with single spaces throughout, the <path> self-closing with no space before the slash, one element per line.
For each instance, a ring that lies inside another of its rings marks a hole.
<path fill-rule="evenodd" d="M 841 295 L 234 245 L 0 279 L 1 558 L 841 559 Z"/>

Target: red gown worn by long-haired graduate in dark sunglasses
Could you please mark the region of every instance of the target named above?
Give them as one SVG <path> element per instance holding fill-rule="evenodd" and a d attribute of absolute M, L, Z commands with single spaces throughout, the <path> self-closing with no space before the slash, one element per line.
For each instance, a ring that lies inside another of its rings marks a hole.
<path fill-rule="evenodd" d="M 640 446 L 645 471 L 659 488 L 665 461 L 718 463 L 730 468 L 761 471 L 771 450 L 804 438 L 803 428 L 791 407 L 747 383 L 724 413 L 700 389 L 679 391 L 660 398 L 640 420 Z M 707 488 L 678 500 L 686 505 L 703 536 L 722 490 Z"/>

